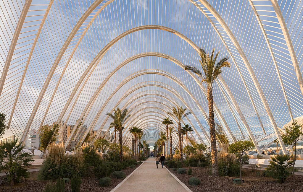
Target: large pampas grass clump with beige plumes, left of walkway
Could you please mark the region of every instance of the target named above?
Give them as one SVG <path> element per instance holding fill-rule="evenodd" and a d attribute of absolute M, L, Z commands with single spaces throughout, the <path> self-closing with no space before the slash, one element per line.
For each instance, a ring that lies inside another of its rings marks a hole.
<path fill-rule="evenodd" d="M 38 174 L 40 180 L 55 180 L 56 178 L 71 178 L 73 175 L 84 171 L 82 150 L 75 154 L 67 155 L 63 145 L 52 143 L 49 145 L 48 155 L 43 161 L 43 166 Z"/>

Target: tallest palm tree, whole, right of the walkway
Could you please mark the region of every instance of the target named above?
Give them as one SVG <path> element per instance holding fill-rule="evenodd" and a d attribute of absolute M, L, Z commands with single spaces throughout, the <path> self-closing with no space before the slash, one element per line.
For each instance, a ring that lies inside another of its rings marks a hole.
<path fill-rule="evenodd" d="M 207 84 L 207 100 L 208 100 L 208 111 L 209 111 L 209 130 L 211 139 L 211 161 L 212 161 L 212 175 L 218 175 L 218 159 L 217 159 L 217 147 L 216 147 L 216 133 L 215 133 L 215 117 L 214 117 L 214 106 L 213 106 L 213 95 L 212 95 L 212 84 L 215 79 L 222 73 L 223 67 L 230 67 L 228 57 L 223 57 L 217 61 L 219 52 L 214 56 L 215 49 L 211 51 L 211 55 L 206 54 L 204 49 L 200 49 L 200 60 L 203 73 L 194 67 L 186 65 L 184 70 L 189 70 L 197 74 L 201 78 L 201 82 Z"/>

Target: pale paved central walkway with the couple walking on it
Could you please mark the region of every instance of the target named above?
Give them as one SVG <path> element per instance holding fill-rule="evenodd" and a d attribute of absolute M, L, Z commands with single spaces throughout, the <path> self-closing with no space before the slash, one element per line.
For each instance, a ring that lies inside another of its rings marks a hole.
<path fill-rule="evenodd" d="M 178 178 L 174 178 L 168 169 L 165 167 L 162 169 L 161 163 L 157 169 L 154 158 L 148 158 L 112 191 L 191 191 L 186 185 L 180 184 L 176 179 Z"/>

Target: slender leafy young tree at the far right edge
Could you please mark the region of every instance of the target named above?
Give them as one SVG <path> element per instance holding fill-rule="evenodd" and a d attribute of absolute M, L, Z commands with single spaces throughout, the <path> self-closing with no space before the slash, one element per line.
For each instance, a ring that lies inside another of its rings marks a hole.
<path fill-rule="evenodd" d="M 302 140 L 303 132 L 302 125 L 298 125 L 298 122 L 294 120 L 291 127 L 285 127 L 285 133 L 282 134 L 282 140 L 286 145 L 293 145 L 295 151 L 295 159 L 293 170 L 295 170 L 295 163 L 297 158 L 296 145 L 298 141 Z M 295 191 L 295 171 L 293 171 L 293 191 Z"/>

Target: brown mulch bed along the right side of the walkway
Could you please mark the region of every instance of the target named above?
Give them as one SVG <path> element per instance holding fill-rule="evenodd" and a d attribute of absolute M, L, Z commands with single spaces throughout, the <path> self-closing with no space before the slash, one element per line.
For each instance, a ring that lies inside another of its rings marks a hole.
<path fill-rule="evenodd" d="M 166 166 L 166 168 L 168 168 Z M 177 171 L 173 171 L 168 168 L 178 179 L 180 179 L 188 188 L 192 191 L 273 191 L 273 192 L 288 192 L 292 191 L 292 179 L 288 177 L 286 183 L 278 183 L 271 177 L 257 177 L 256 172 L 252 172 L 251 169 L 243 169 L 242 180 L 244 180 L 243 186 L 233 184 L 232 179 L 236 177 L 212 177 L 210 175 L 210 168 L 195 168 L 191 167 L 192 174 L 178 174 Z M 189 169 L 188 167 L 185 169 Z M 197 186 L 189 185 L 188 180 L 190 177 L 198 177 L 201 180 L 201 184 Z M 303 176 L 295 175 L 295 191 L 303 191 Z"/>

